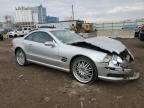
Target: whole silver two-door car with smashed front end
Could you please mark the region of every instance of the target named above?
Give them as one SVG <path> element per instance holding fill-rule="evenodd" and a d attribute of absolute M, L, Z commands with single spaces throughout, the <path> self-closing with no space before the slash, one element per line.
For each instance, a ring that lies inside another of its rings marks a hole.
<path fill-rule="evenodd" d="M 139 78 L 128 67 L 134 61 L 130 51 L 108 37 L 85 39 L 65 29 L 41 29 L 13 39 L 12 45 L 20 66 L 32 62 L 64 70 L 81 83 Z"/>

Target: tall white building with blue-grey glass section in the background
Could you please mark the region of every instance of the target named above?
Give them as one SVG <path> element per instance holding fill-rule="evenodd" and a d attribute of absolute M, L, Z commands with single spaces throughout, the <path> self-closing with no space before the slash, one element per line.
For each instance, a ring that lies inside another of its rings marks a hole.
<path fill-rule="evenodd" d="M 42 5 L 37 7 L 16 8 L 16 24 L 21 26 L 34 26 L 46 23 L 46 8 Z"/>

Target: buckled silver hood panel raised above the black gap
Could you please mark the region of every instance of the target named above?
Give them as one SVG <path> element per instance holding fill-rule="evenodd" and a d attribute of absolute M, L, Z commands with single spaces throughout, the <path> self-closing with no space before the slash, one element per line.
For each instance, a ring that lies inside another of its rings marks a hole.
<path fill-rule="evenodd" d="M 106 50 L 108 52 L 111 53 L 117 53 L 120 54 L 121 52 L 123 52 L 126 49 L 126 46 L 124 44 L 122 44 L 120 41 L 118 40 L 114 40 L 112 38 L 108 38 L 108 37 L 94 37 L 94 38 L 87 38 L 81 41 L 78 41 L 76 43 L 88 43 L 91 44 L 95 47 L 98 47 L 100 49 Z"/>

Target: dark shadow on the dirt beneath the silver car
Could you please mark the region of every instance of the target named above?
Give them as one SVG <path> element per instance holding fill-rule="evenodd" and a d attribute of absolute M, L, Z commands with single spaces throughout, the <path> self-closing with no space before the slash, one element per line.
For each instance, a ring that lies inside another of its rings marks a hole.
<path fill-rule="evenodd" d="M 50 68 L 50 67 L 46 67 L 46 66 L 42 66 L 42 65 L 38 65 L 38 64 L 33 64 L 33 63 L 30 63 L 29 66 L 32 68 L 35 68 L 36 70 L 39 70 L 40 72 L 51 73 L 52 75 L 57 75 L 59 77 L 64 76 L 67 80 L 69 80 L 69 82 L 72 82 L 75 80 L 70 72 L 65 72 L 65 71 L 61 71 L 58 69 L 54 69 L 54 68 Z M 101 86 L 121 86 L 121 85 L 123 85 L 124 86 L 124 85 L 132 84 L 135 82 L 136 82 L 136 80 L 115 81 L 114 82 L 114 81 L 104 81 L 104 80 L 97 79 L 94 83 L 88 84 L 88 85 L 93 85 L 93 86 L 94 85 L 101 85 Z M 80 83 L 80 82 L 78 82 L 78 83 Z"/>

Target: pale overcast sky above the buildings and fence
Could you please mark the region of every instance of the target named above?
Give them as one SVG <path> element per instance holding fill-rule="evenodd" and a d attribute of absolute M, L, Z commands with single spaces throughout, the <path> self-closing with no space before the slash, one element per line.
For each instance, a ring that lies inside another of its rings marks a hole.
<path fill-rule="evenodd" d="M 72 16 L 90 22 L 118 21 L 144 18 L 144 0 L 0 0 L 0 19 L 15 16 L 15 7 L 38 6 L 42 2 L 47 15 L 65 20 Z"/>

